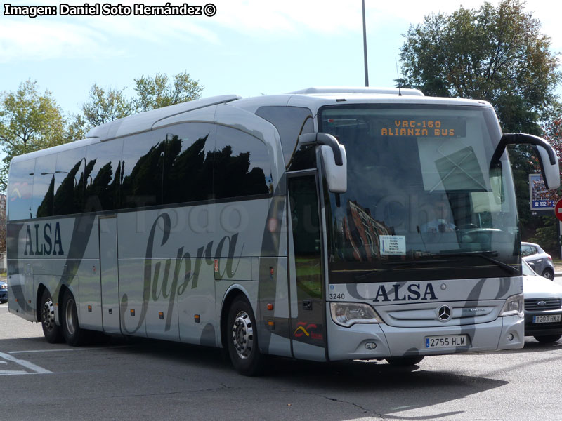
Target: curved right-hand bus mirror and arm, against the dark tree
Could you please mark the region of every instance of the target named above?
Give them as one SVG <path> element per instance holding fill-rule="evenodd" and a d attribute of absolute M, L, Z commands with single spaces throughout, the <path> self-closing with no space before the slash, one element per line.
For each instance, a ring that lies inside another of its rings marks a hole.
<path fill-rule="evenodd" d="M 560 186 L 560 169 L 558 168 L 558 157 L 552 149 L 549 142 L 535 135 L 527 135 L 525 133 L 505 133 L 499 140 L 492 160 L 490 168 L 499 163 L 499 159 L 504 153 L 507 145 L 535 145 L 539 156 L 539 163 L 547 189 L 557 189 Z"/>

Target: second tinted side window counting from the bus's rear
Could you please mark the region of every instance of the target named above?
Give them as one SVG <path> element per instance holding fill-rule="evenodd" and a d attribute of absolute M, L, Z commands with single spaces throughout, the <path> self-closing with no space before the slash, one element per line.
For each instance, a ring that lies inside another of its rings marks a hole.
<path fill-rule="evenodd" d="M 41 156 L 35 160 L 31 213 L 34 218 L 53 215 L 56 155 Z"/>

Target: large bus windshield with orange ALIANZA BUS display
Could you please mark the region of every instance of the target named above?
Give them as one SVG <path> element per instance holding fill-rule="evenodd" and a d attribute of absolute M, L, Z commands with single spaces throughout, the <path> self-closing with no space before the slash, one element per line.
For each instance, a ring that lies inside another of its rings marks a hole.
<path fill-rule="evenodd" d="M 492 109 L 348 105 L 320 110 L 346 147 L 348 190 L 326 196 L 331 283 L 521 274 L 509 162 Z"/>

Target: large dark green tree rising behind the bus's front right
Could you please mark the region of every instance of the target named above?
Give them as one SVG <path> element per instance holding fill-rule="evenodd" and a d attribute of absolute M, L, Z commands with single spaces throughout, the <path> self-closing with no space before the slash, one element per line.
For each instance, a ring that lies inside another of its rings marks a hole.
<path fill-rule="evenodd" d="M 519 0 L 428 15 L 408 29 L 400 52 L 404 77 L 429 95 L 488 100 L 504 131 L 538 134 L 562 81 L 540 29 Z"/>

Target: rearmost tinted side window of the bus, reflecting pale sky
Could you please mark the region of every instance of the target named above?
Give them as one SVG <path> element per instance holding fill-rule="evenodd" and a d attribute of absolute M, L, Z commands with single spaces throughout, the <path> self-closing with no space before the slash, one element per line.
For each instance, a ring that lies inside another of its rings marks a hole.
<path fill-rule="evenodd" d="M 12 163 L 8 189 L 8 220 L 32 218 L 34 170 L 34 159 Z"/>

